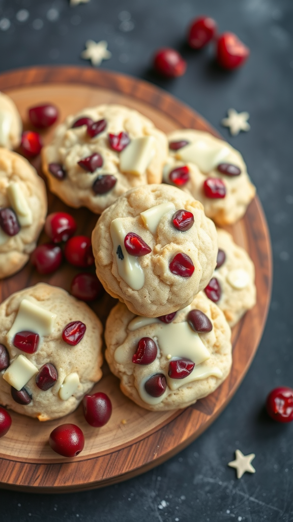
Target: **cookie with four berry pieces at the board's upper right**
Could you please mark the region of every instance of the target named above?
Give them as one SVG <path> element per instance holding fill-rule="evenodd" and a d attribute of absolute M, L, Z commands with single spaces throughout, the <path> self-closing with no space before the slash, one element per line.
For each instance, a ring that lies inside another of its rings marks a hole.
<path fill-rule="evenodd" d="M 189 192 L 217 224 L 240 219 L 255 195 L 241 154 L 209 133 L 180 129 L 168 135 L 163 180 Z"/>

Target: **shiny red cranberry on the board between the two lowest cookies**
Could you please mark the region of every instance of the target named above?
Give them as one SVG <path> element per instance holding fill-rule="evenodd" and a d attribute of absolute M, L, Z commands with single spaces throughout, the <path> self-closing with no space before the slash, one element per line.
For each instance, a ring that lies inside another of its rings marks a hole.
<path fill-rule="evenodd" d="M 112 402 L 103 392 L 86 395 L 82 401 L 86 421 L 94 428 L 107 424 L 112 414 Z"/>

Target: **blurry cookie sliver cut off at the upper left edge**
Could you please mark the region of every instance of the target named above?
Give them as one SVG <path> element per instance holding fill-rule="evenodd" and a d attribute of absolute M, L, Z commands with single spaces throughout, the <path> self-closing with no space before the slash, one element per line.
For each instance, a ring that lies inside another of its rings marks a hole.
<path fill-rule="evenodd" d="M 0 92 L 0 147 L 16 149 L 20 145 L 22 122 L 15 103 Z"/>

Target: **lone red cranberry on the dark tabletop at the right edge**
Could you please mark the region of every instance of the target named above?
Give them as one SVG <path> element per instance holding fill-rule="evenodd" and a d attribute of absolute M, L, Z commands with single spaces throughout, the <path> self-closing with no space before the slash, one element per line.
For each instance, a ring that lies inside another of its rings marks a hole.
<path fill-rule="evenodd" d="M 293 389 L 275 388 L 266 398 L 266 411 L 277 422 L 293 421 Z"/>

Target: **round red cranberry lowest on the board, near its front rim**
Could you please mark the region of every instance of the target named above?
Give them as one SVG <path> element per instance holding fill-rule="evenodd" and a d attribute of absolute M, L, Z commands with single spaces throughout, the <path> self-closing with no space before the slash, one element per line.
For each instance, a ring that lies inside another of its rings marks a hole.
<path fill-rule="evenodd" d="M 84 435 L 76 424 L 61 424 L 50 433 L 49 444 L 63 457 L 76 457 L 84 448 Z"/>

